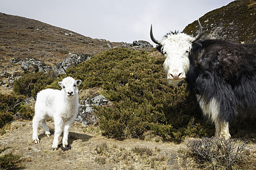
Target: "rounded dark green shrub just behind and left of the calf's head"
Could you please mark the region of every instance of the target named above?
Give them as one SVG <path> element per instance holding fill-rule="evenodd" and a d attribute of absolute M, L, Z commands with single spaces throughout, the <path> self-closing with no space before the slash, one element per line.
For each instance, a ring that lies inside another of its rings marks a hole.
<path fill-rule="evenodd" d="M 27 97 L 36 97 L 40 90 L 45 89 L 46 85 L 51 84 L 55 80 L 55 77 L 53 71 L 25 74 L 20 79 L 14 81 L 14 91 Z"/>

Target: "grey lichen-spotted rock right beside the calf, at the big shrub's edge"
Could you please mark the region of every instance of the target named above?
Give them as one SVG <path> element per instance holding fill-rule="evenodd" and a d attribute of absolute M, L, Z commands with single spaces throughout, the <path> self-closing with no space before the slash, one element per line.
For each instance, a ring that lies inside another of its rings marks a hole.
<path fill-rule="evenodd" d="M 98 95 L 94 98 L 81 100 L 79 105 L 79 112 L 76 121 L 81 121 L 83 125 L 95 125 L 98 123 L 98 118 L 94 113 L 93 106 L 105 106 L 110 104 L 103 95 Z"/>

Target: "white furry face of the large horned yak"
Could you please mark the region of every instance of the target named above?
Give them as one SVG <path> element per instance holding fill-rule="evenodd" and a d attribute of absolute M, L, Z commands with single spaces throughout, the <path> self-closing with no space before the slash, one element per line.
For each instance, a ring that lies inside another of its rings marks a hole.
<path fill-rule="evenodd" d="M 186 78 L 190 65 L 188 57 L 192 48 L 192 38 L 184 33 L 168 34 L 160 42 L 161 52 L 166 57 L 163 68 L 168 81 L 173 85 L 178 85 Z"/>

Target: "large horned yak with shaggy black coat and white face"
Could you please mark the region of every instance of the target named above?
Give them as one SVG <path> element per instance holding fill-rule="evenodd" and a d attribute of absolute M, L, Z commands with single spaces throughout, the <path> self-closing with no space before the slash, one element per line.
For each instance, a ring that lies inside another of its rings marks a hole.
<path fill-rule="evenodd" d="M 152 25 L 150 36 L 166 57 L 163 68 L 168 81 L 178 85 L 186 80 L 203 114 L 215 123 L 215 136 L 230 138 L 229 123 L 236 114 L 256 109 L 256 43 L 198 40 L 199 20 L 198 24 L 196 37 L 171 32 L 158 41 Z"/>

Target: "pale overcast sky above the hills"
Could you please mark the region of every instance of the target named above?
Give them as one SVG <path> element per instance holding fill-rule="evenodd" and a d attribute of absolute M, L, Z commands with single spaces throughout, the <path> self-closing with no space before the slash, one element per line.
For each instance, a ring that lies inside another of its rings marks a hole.
<path fill-rule="evenodd" d="M 233 0 L 0 0 L 0 12 L 32 18 L 112 42 L 157 39 L 182 31 L 207 12 Z"/>

